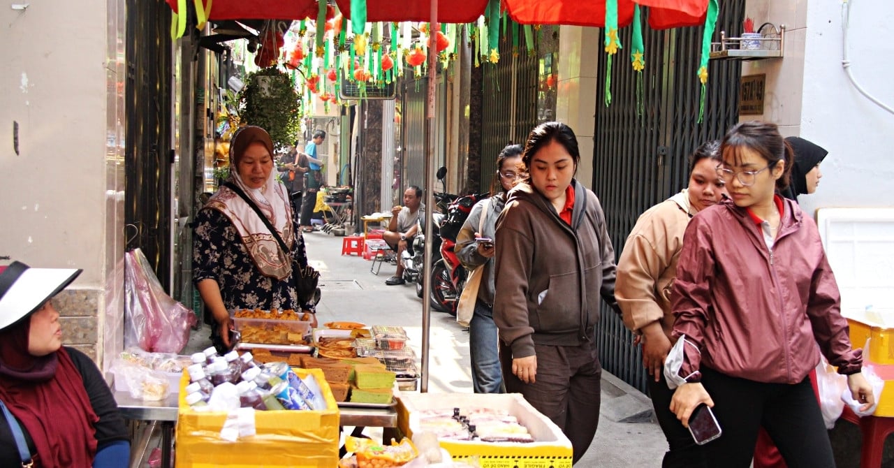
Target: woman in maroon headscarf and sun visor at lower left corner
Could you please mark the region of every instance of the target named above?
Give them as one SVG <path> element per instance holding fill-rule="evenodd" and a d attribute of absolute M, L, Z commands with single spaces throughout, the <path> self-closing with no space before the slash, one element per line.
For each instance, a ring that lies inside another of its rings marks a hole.
<path fill-rule="evenodd" d="M 80 271 L 0 267 L 0 468 L 127 466 L 114 396 L 87 355 L 62 345 L 51 302 Z"/>

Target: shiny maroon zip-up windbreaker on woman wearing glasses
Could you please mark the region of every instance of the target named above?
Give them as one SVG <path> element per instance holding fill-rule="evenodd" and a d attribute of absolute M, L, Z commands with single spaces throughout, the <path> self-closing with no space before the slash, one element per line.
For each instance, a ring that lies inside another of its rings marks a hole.
<path fill-rule="evenodd" d="M 673 336 L 685 335 L 679 375 L 700 366 L 759 382 L 800 382 L 822 354 L 839 373 L 860 370 L 838 285 L 814 220 L 784 201 L 772 251 L 746 209 L 725 201 L 689 222 L 673 285 Z"/>

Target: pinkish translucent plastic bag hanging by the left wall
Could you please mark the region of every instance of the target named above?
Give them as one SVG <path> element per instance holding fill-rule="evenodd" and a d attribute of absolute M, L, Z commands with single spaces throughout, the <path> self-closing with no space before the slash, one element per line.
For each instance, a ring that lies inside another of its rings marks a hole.
<path fill-rule="evenodd" d="M 190 339 L 196 314 L 164 292 L 139 249 L 124 254 L 124 345 L 179 353 Z"/>

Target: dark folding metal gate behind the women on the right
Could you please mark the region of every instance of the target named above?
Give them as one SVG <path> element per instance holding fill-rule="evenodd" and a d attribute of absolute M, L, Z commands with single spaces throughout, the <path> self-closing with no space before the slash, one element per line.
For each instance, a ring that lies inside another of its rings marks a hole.
<path fill-rule="evenodd" d="M 717 35 L 739 30 L 745 1 L 721 3 Z M 704 27 L 643 29 L 643 114 L 637 115 L 637 76 L 628 53 L 614 57 L 611 106 L 604 106 L 606 55 L 599 59 L 596 91 L 593 187 L 602 202 L 609 235 L 620 256 L 637 217 L 688 183 L 687 157 L 705 140 L 719 139 L 738 122 L 740 64 L 712 61 L 704 99 L 704 122 L 698 119 L 701 83 L 696 71 Z M 620 31 L 630 44 L 630 29 Z M 646 373 L 633 336 L 620 317 L 603 305 L 596 333 L 603 367 L 646 392 Z"/>

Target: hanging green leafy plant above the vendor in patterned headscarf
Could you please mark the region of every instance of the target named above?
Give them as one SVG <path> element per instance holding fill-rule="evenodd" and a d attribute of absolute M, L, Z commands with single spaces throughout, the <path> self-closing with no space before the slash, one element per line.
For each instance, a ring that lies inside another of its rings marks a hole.
<path fill-rule="evenodd" d="M 301 98 L 286 72 L 270 67 L 251 73 L 239 99 L 242 123 L 265 129 L 276 148 L 294 143 L 299 133 Z"/>

